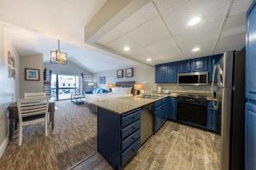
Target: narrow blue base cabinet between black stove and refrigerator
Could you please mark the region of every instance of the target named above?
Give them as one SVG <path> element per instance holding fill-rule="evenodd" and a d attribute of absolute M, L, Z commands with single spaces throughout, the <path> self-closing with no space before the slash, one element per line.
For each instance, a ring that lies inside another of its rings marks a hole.
<path fill-rule="evenodd" d="M 207 128 L 217 130 L 217 111 L 213 109 L 212 101 L 207 102 Z"/>

